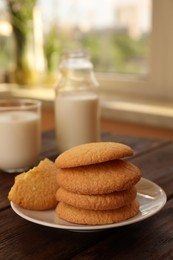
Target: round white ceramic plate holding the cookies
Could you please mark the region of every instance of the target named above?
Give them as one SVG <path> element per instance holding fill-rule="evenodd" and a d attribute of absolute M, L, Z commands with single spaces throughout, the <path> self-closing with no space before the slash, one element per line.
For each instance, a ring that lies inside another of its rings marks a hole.
<path fill-rule="evenodd" d="M 142 221 L 156 214 L 163 208 L 166 203 L 167 197 L 165 192 L 157 184 L 147 179 L 141 178 L 136 187 L 138 192 L 137 197 L 140 203 L 140 212 L 133 218 L 115 224 L 77 225 L 58 218 L 54 210 L 27 210 L 18 207 L 13 202 L 11 202 L 11 207 L 20 217 L 40 225 L 79 232 L 99 231 Z"/>

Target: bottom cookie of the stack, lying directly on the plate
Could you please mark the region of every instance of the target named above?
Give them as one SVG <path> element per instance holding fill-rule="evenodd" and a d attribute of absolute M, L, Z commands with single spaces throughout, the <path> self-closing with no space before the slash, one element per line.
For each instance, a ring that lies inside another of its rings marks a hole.
<path fill-rule="evenodd" d="M 79 209 L 64 202 L 59 202 L 56 207 L 56 214 L 60 218 L 72 223 L 88 225 L 117 223 L 134 217 L 138 212 L 139 203 L 137 200 L 114 210 Z"/>

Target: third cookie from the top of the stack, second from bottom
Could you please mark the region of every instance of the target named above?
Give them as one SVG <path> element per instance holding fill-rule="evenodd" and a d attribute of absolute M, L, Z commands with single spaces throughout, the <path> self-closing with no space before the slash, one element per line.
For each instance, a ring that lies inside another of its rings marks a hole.
<path fill-rule="evenodd" d="M 90 210 L 109 210 L 123 207 L 136 198 L 136 188 L 102 195 L 81 195 L 60 187 L 56 199 L 71 206 Z"/>

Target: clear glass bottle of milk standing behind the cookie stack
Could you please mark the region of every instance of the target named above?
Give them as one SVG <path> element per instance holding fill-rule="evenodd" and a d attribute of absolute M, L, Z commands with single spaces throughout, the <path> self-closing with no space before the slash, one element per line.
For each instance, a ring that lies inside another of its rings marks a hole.
<path fill-rule="evenodd" d="M 55 98 L 59 153 L 79 144 L 99 141 L 98 89 L 87 50 L 65 52 Z"/>

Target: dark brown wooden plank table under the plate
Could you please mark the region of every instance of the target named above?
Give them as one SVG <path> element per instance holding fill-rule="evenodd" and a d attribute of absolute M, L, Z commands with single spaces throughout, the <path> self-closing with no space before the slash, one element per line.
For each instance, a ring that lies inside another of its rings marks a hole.
<path fill-rule="evenodd" d="M 173 142 L 103 133 L 102 140 L 130 145 L 130 159 L 166 192 L 156 215 L 132 225 L 100 232 L 45 227 L 19 217 L 7 200 L 14 175 L 0 172 L 0 259 L 173 259 Z M 42 155 L 57 156 L 54 131 L 43 134 Z"/>

